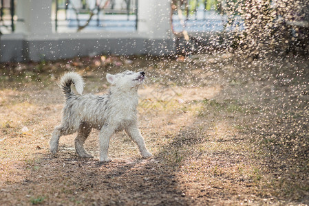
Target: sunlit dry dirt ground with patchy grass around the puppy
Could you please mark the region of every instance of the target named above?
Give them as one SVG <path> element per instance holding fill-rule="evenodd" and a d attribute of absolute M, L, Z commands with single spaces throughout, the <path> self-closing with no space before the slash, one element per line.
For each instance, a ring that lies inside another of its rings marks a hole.
<path fill-rule="evenodd" d="M 179 58 L 96 56 L 8 63 L 0 69 L 0 205 L 308 205 L 309 60 L 237 54 Z M 145 71 L 142 159 L 125 133 L 98 161 L 98 132 L 81 159 L 74 135 L 49 139 L 61 120 L 65 71 L 84 93 L 105 93 L 105 75 Z"/>

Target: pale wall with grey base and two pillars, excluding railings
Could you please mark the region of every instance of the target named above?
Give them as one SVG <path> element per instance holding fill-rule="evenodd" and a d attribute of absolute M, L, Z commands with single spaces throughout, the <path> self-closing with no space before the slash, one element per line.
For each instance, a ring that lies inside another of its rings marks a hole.
<path fill-rule="evenodd" d="M 95 54 L 172 54 L 169 12 L 170 0 L 138 0 L 138 31 L 57 34 L 52 30 L 52 0 L 17 0 L 21 21 L 14 34 L 1 36 L 0 62 Z"/>

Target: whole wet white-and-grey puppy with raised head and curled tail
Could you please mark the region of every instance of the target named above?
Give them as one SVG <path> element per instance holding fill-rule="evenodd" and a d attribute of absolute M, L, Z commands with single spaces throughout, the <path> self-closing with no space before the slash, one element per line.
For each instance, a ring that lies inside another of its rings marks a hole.
<path fill-rule="evenodd" d="M 58 141 L 62 135 L 78 132 L 75 139 L 75 149 L 80 157 L 92 157 L 83 148 L 92 128 L 100 130 L 100 161 L 110 161 L 107 156 L 109 139 L 120 130 L 125 130 L 136 142 L 142 157 L 151 157 L 140 135 L 137 124 L 138 86 L 144 80 L 142 73 L 125 71 L 116 75 L 107 74 L 111 84 L 109 93 L 93 95 L 83 93 L 83 79 L 77 73 L 66 73 L 61 78 L 61 88 L 66 101 L 62 111 L 62 120 L 56 126 L 50 139 L 50 152 L 58 150 Z M 72 93 L 71 83 L 74 83 L 78 94 Z"/>

